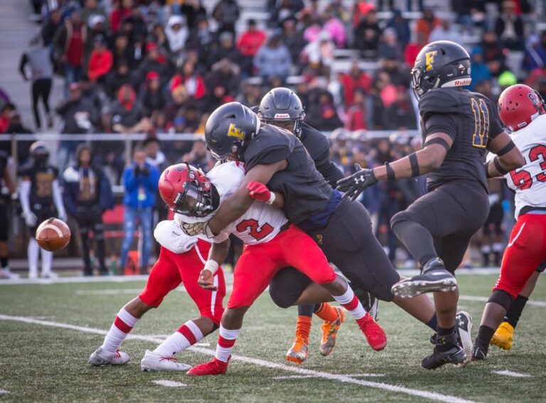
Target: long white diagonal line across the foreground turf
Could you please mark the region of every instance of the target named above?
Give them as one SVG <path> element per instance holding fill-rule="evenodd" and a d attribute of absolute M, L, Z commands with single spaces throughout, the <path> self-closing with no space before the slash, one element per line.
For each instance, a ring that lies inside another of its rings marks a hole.
<path fill-rule="evenodd" d="M 9 316 L 0 314 L 0 320 L 4 321 L 16 321 L 24 323 L 33 323 L 35 325 L 50 326 L 53 328 L 64 328 L 70 329 L 73 331 L 80 331 L 85 333 L 92 333 L 96 335 L 105 335 L 107 331 L 96 328 L 88 328 L 86 326 L 76 326 L 70 325 L 69 323 L 58 323 L 50 321 L 39 321 L 37 319 L 26 318 L 25 316 Z M 154 338 L 146 335 L 127 335 L 127 340 L 144 340 L 152 343 L 162 343 L 164 339 Z M 201 347 L 190 347 L 188 350 L 195 351 L 196 353 L 201 353 L 205 355 L 214 355 L 215 350 L 210 348 L 201 348 Z M 351 383 L 353 385 L 361 385 L 366 387 L 375 387 L 376 389 L 388 390 L 389 392 L 399 392 L 410 394 L 412 396 L 425 397 L 427 399 L 437 400 L 439 402 L 449 402 L 449 403 L 474 403 L 472 400 L 461 399 L 460 397 L 450 396 L 449 394 L 441 394 L 436 392 L 428 392 L 421 389 L 411 389 L 409 387 L 390 385 L 387 383 L 381 382 L 372 382 L 367 380 L 355 380 L 352 377 L 347 375 L 331 374 L 329 372 L 321 372 L 314 370 L 306 370 L 304 368 L 291 367 L 289 365 L 277 364 L 276 362 L 270 362 L 266 360 L 259 360 L 258 358 L 245 357 L 244 355 L 232 355 L 231 357 L 234 361 L 247 362 L 249 364 L 259 365 L 261 367 L 274 368 L 277 370 L 283 370 L 287 372 L 295 372 L 299 375 L 312 375 L 314 377 L 321 377 L 327 380 L 336 380 L 338 382 Z"/>

